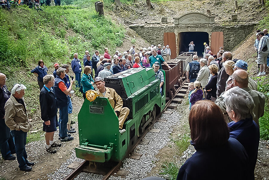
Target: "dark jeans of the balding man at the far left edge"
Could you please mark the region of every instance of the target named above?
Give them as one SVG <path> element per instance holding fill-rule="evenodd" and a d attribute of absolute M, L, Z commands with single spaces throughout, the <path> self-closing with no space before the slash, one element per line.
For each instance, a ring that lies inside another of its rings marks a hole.
<path fill-rule="evenodd" d="M 5 119 L 0 119 L 0 151 L 3 159 L 15 153 L 14 138 L 10 136 L 10 129 L 5 123 Z"/>

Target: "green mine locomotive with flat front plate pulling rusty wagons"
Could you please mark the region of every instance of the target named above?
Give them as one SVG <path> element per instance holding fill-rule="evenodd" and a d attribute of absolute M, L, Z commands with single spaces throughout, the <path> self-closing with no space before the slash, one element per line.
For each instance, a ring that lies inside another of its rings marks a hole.
<path fill-rule="evenodd" d="M 160 80 L 155 78 L 153 68 L 131 68 L 104 80 L 105 86 L 123 99 L 123 107 L 130 109 L 123 125 L 126 132 L 119 133 L 119 120 L 107 98 L 96 94 L 94 101 L 86 98 L 78 114 L 80 145 L 76 156 L 92 162 L 119 162 L 164 109 L 165 82 L 161 96 Z"/>

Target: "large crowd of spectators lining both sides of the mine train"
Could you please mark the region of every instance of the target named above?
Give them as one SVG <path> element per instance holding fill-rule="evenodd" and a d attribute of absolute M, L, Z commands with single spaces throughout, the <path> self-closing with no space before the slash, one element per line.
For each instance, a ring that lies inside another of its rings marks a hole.
<path fill-rule="evenodd" d="M 261 38 L 259 44 L 262 44 L 264 39 Z M 194 47 L 192 44 L 193 42 L 190 43 L 190 48 Z M 257 91 L 256 82 L 248 77 L 247 62 L 233 59 L 232 53 L 224 51 L 223 48 L 213 55 L 210 47 L 206 43 L 204 45 L 204 58 L 199 59 L 197 55 L 193 55 L 192 62 L 186 67 L 187 80 L 190 82 L 191 144 L 195 146 L 196 153 L 181 167 L 178 179 L 206 179 L 209 169 L 213 172 L 210 175 L 212 177 L 227 174 L 222 172 L 227 172 L 228 164 L 231 162 L 240 167 L 233 172 L 234 178 L 254 179 L 259 145 L 259 118 L 264 114 L 265 96 Z M 60 66 L 55 63 L 53 74 L 48 74 L 48 68 L 42 60 L 39 60 L 38 66 L 31 71 L 37 75 L 40 89 L 39 102 L 41 118 L 44 121 L 45 150 L 48 153 L 56 153 L 55 147 L 61 146 L 54 141 L 54 132 L 58 126 L 60 141 L 74 139 L 70 134 L 76 132 L 71 126 L 73 107 L 70 97 L 74 93 L 73 84 L 80 88 L 84 99 L 86 92 L 94 90 L 94 87 L 97 87 L 100 96 L 109 99 L 119 119 L 121 134 L 126 132 L 122 128 L 129 109 L 123 107 L 123 101 L 114 89 L 105 87 L 104 78 L 130 68 L 153 67 L 156 79 L 160 79 L 162 93 L 164 76 L 160 69 L 162 64 L 171 69 L 166 63 L 171 56 L 169 45 L 152 45 L 139 48 L 138 52 L 133 45 L 123 53 L 116 51 L 113 56 L 109 54 L 108 48 L 104 51 L 104 55 L 101 56 L 99 51 L 95 51 L 92 56 L 89 51 L 85 51 L 83 65 L 75 53 L 71 61 L 75 77 L 67 75 L 67 64 Z M 14 160 L 15 156 L 12 154 L 16 153 L 20 170 L 30 171 L 34 163 L 27 160 L 25 145 L 31 124 L 22 98 L 26 87 L 23 84 L 15 84 L 10 93 L 5 82 L 6 76 L 0 73 L 0 97 L 3 97 L 0 103 L 3 120 L 0 125 L 1 129 L 5 129 L 1 131 L 0 151 L 6 160 Z M 224 156 L 227 151 L 232 154 Z M 229 179 L 227 176 L 223 176 L 223 179 Z"/>

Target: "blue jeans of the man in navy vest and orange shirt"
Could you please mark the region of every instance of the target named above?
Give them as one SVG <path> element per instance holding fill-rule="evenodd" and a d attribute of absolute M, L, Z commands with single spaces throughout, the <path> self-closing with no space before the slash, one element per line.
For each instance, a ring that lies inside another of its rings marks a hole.
<path fill-rule="evenodd" d="M 59 137 L 67 137 L 68 106 L 59 107 Z"/>

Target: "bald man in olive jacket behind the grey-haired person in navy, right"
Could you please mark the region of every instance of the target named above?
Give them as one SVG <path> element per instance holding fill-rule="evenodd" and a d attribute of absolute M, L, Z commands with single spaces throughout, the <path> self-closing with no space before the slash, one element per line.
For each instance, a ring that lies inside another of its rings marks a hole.
<path fill-rule="evenodd" d="M 259 126 L 259 118 L 264 115 L 265 96 L 259 91 L 252 90 L 248 87 L 249 78 L 248 78 L 247 71 L 244 71 L 242 69 L 236 70 L 231 75 L 231 78 L 233 79 L 233 82 L 227 86 L 226 91 L 232 87 L 238 86 L 250 94 L 255 104 L 255 107 L 253 109 L 253 120 Z M 218 107 L 220 107 L 221 111 L 224 113 L 225 120 L 231 121 L 230 118 L 228 118 L 228 114 L 226 112 L 226 106 L 225 106 L 225 102 L 223 101 L 222 94 L 221 96 L 217 98 L 217 100 L 215 101 L 215 104 L 217 104 Z"/>

